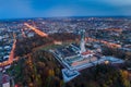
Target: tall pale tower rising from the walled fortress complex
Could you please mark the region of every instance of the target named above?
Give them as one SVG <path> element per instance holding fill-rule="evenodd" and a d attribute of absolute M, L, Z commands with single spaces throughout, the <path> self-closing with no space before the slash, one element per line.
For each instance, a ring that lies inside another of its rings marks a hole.
<path fill-rule="evenodd" d="M 81 44 L 80 44 L 80 47 L 81 47 L 81 53 L 82 52 L 85 52 L 86 49 L 85 49 L 85 29 L 81 29 Z"/>

